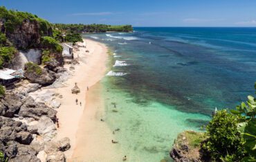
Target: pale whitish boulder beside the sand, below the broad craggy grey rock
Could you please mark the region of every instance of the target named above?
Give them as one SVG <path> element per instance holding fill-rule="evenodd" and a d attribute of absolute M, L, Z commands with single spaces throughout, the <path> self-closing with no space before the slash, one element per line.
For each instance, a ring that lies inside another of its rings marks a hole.
<path fill-rule="evenodd" d="M 50 141 L 57 134 L 55 124 L 46 116 L 41 117 L 36 126 L 37 132 L 44 137 L 44 141 Z"/>

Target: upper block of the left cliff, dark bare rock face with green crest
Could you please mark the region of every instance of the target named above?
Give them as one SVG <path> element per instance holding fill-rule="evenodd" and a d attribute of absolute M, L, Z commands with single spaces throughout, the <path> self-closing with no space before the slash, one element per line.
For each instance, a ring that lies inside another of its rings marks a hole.
<path fill-rule="evenodd" d="M 51 24 L 28 12 L 0 7 L 0 30 L 17 48 L 39 48 L 41 37 L 52 36 Z"/>

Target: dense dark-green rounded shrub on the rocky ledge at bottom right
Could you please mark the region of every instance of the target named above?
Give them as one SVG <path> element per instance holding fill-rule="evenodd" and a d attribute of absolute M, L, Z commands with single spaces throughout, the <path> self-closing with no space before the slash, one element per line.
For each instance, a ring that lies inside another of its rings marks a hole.
<path fill-rule="evenodd" d="M 244 140 L 237 130 L 238 123 L 239 117 L 221 110 L 206 126 L 208 139 L 202 147 L 214 161 L 240 161 L 243 158 Z"/>

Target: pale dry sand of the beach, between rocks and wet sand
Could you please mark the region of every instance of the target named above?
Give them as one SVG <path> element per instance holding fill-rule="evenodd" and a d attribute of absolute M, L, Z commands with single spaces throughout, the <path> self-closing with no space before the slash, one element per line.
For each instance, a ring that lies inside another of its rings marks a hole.
<path fill-rule="evenodd" d="M 60 108 L 57 109 L 57 118 L 59 119 L 60 128 L 57 129 L 56 139 L 68 137 L 71 140 L 71 149 L 65 152 L 68 161 L 71 161 L 71 156 L 76 148 L 77 143 L 77 129 L 81 125 L 81 117 L 84 113 L 93 113 L 91 109 L 87 108 L 89 99 L 88 92 L 95 83 L 98 83 L 106 72 L 107 63 L 107 47 L 96 41 L 84 39 L 86 48 L 80 47 L 79 51 L 74 52 L 74 57 L 79 56 L 80 64 L 74 65 L 72 77 L 64 84 L 62 88 L 55 88 L 54 91 L 62 94 L 63 98 L 60 99 Z M 89 52 L 85 52 L 89 50 Z M 71 65 L 64 65 L 64 68 L 69 68 Z M 71 89 L 75 83 L 80 88 L 79 94 L 72 94 Z M 87 90 L 87 86 L 89 90 Z M 75 100 L 78 100 L 76 105 Z M 81 102 L 81 105 L 80 105 Z M 88 111 L 90 110 L 90 111 Z M 91 125 L 91 123 L 86 123 Z M 84 125 L 83 125 L 84 126 Z"/>

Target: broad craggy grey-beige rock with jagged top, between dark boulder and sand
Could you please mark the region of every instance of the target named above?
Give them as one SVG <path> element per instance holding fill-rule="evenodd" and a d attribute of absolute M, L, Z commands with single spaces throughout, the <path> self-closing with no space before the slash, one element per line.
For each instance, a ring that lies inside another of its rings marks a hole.
<path fill-rule="evenodd" d="M 39 120 L 42 116 L 47 116 L 55 121 L 57 111 L 49 108 L 45 103 L 35 103 L 32 97 L 27 97 L 25 103 L 19 110 L 19 116 Z"/>

